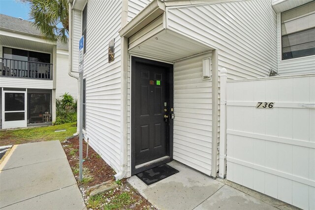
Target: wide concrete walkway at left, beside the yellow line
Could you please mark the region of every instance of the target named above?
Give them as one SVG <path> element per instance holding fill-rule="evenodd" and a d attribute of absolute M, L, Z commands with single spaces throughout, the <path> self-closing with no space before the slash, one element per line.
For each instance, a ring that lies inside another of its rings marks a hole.
<path fill-rule="evenodd" d="M 0 164 L 0 209 L 86 209 L 60 141 L 12 147 Z"/>

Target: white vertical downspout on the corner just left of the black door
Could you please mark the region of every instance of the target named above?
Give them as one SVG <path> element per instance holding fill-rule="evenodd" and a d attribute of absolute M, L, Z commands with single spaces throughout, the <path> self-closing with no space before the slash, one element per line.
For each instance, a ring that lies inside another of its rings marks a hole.
<path fill-rule="evenodd" d="M 122 28 L 127 24 L 128 0 L 122 0 Z M 120 141 L 120 172 L 115 176 L 120 180 L 127 173 L 127 59 L 128 59 L 128 38 L 121 37 L 121 141 Z"/>

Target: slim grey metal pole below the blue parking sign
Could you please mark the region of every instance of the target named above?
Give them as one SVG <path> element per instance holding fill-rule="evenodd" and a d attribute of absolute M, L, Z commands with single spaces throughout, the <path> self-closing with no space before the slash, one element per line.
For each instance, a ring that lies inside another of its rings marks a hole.
<path fill-rule="evenodd" d="M 83 71 L 80 72 L 80 98 L 79 98 L 79 103 L 80 103 L 80 123 L 79 123 L 79 180 L 82 181 L 83 178 L 83 172 L 82 172 L 82 157 L 83 157 Z"/>

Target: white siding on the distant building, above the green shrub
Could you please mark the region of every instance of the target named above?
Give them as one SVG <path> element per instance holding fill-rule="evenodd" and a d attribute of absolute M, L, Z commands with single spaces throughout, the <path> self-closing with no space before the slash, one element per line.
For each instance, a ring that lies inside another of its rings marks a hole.
<path fill-rule="evenodd" d="M 78 81 L 69 76 L 69 56 L 57 53 L 57 78 L 56 78 L 56 98 L 62 98 L 64 93 L 70 94 L 74 99 L 78 97 Z"/>

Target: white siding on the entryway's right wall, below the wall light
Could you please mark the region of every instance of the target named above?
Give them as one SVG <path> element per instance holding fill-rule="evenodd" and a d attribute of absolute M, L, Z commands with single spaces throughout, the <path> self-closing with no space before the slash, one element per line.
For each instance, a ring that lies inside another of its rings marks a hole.
<path fill-rule="evenodd" d="M 173 158 L 211 175 L 212 82 L 202 78 L 202 59 L 196 56 L 174 63 Z"/>

